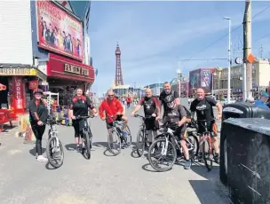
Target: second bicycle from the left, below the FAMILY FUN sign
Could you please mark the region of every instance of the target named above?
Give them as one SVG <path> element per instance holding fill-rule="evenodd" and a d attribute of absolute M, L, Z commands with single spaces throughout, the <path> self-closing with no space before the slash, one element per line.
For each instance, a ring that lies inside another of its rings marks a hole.
<path fill-rule="evenodd" d="M 90 160 L 91 158 L 91 146 L 92 146 L 92 134 L 91 134 L 91 129 L 88 125 L 88 122 L 87 122 L 87 119 L 88 118 L 93 118 L 94 115 L 91 115 L 91 116 L 76 116 L 75 119 L 76 120 L 80 120 L 80 119 L 83 119 L 82 122 L 83 122 L 83 143 L 84 143 L 84 148 L 85 148 L 85 151 L 84 149 L 82 150 L 82 154 L 84 155 L 84 153 L 86 154 L 86 159 Z"/>

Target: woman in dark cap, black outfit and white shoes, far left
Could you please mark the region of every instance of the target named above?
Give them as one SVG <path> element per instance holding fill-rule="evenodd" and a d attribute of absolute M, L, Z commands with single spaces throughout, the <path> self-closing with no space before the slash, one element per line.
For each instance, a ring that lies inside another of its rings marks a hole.
<path fill-rule="evenodd" d="M 33 130 L 33 133 L 36 137 L 36 161 L 47 162 L 48 159 L 45 158 L 42 154 L 42 138 L 46 128 L 46 122 L 48 118 L 48 109 L 42 95 L 43 90 L 36 89 L 34 90 L 34 99 L 29 102 L 29 115 L 30 115 L 30 124 Z"/>

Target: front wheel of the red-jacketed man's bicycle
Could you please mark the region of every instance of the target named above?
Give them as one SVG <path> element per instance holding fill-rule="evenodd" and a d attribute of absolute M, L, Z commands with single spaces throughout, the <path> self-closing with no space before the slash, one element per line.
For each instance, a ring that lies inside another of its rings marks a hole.
<path fill-rule="evenodd" d="M 107 136 L 107 145 L 109 152 L 115 156 L 121 153 L 121 135 L 116 129 L 112 129 L 111 138 Z"/>

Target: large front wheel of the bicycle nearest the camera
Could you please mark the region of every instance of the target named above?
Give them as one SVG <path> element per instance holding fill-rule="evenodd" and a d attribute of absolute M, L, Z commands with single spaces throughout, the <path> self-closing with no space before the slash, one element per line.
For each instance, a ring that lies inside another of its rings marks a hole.
<path fill-rule="evenodd" d="M 177 153 L 175 145 L 168 141 L 168 146 L 166 148 L 166 138 L 156 139 L 152 145 L 149 147 L 148 151 L 148 161 L 153 169 L 158 172 L 163 172 L 170 170 L 177 159 Z M 156 161 L 155 161 L 156 160 Z M 171 160 L 170 162 L 162 165 L 165 160 Z"/>

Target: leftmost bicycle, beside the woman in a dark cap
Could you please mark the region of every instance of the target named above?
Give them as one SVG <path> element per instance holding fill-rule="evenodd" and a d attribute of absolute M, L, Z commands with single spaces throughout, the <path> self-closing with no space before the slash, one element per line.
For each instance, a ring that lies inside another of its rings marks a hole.
<path fill-rule="evenodd" d="M 50 126 L 50 129 L 48 132 L 46 153 L 49 163 L 52 167 L 57 169 L 60 168 L 64 162 L 64 148 L 58 137 L 58 131 L 56 129 L 57 122 L 52 117 L 49 117 L 47 124 Z M 57 155 L 60 155 L 60 162 L 55 158 Z"/>

